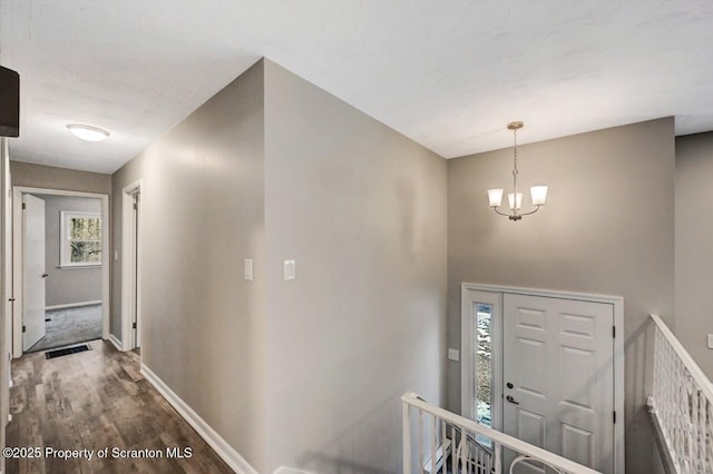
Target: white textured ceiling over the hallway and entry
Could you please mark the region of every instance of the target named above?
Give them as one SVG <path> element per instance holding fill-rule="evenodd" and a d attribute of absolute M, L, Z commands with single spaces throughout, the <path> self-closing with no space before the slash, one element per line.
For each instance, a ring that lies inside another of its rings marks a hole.
<path fill-rule="evenodd" d="M 111 172 L 262 56 L 443 157 L 676 117 L 713 130 L 713 2 L 0 0 L 13 159 Z M 79 122 L 111 137 L 84 142 Z"/>

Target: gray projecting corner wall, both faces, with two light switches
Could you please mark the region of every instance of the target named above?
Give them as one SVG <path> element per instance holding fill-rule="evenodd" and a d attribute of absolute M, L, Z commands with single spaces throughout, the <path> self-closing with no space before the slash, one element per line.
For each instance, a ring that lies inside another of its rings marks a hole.
<path fill-rule="evenodd" d="M 119 258 L 139 178 L 144 363 L 258 472 L 398 471 L 400 395 L 445 387 L 445 160 L 260 61 L 114 175 Z"/>

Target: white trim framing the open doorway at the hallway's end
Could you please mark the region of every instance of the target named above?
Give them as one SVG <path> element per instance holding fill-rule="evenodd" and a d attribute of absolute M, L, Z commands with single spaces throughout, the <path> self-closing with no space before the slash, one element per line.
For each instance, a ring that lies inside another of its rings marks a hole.
<path fill-rule="evenodd" d="M 109 195 L 98 192 L 68 191 L 64 189 L 12 187 L 12 357 L 22 356 L 22 195 L 42 194 L 52 196 L 86 197 L 101 200 L 101 337 L 109 337 L 109 265 L 111 264 L 109 236 Z"/>

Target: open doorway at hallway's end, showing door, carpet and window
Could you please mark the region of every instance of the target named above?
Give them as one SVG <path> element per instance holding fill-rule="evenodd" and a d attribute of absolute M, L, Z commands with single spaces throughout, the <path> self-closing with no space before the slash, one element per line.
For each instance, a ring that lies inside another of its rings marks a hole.
<path fill-rule="evenodd" d="M 109 333 L 108 196 L 13 188 L 12 355 Z"/>

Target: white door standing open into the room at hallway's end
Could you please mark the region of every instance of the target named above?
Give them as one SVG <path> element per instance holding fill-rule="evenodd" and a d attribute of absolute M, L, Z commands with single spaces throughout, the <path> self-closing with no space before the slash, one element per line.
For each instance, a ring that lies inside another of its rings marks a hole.
<path fill-rule="evenodd" d="M 22 350 L 45 336 L 45 200 L 23 195 Z"/>

